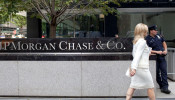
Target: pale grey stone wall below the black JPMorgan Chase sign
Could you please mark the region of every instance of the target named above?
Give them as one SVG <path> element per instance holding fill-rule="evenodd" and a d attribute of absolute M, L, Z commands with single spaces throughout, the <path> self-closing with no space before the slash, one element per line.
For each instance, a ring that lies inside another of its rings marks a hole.
<path fill-rule="evenodd" d="M 0 61 L 1 96 L 125 96 L 131 60 L 111 61 Z M 155 82 L 155 61 L 150 70 Z M 147 96 L 136 90 L 135 96 Z"/>

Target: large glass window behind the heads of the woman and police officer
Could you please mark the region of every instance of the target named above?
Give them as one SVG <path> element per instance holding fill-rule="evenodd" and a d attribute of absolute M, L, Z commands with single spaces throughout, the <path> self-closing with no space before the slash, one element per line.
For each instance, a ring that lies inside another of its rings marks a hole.
<path fill-rule="evenodd" d="M 172 40 L 175 39 L 174 18 L 174 12 L 121 12 L 117 19 L 118 34 L 133 37 L 136 24 L 145 23 L 148 26 L 157 25 L 158 33 L 166 40 Z"/>

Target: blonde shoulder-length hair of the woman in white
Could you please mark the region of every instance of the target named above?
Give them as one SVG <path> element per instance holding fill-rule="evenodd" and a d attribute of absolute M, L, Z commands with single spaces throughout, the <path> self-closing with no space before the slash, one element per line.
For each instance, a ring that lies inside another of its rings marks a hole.
<path fill-rule="evenodd" d="M 146 36 L 146 33 L 148 32 L 148 26 L 143 24 L 143 23 L 139 23 L 136 25 L 135 30 L 134 30 L 134 40 L 133 40 L 133 44 L 136 44 L 136 42 L 140 39 L 140 38 L 144 38 Z"/>

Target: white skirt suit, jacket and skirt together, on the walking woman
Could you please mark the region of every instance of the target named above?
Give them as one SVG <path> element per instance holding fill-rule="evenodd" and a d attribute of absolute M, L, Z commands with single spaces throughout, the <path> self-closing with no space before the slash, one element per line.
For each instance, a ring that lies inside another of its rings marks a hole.
<path fill-rule="evenodd" d="M 131 68 L 136 69 L 136 73 L 131 77 L 130 88 L 134 89 L 148 89 L 154 88 L 153 79 L 149 71 L 149 55 L 151 48 L 149 48 L 144 39 L 139 39 L 133 45 L 133 61 Z"/>

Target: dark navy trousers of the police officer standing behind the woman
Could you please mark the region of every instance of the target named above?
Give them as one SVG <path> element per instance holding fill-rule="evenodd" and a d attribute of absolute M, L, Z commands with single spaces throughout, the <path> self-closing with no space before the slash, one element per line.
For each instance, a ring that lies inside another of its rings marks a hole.
<path fill-rule="evenodd" d="M 157 56 L 156 60 L 156 81 L 161 89 L 168 88 L 167 63 L 165 56 Z"/>

